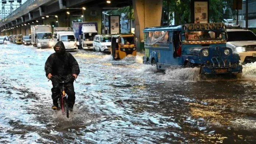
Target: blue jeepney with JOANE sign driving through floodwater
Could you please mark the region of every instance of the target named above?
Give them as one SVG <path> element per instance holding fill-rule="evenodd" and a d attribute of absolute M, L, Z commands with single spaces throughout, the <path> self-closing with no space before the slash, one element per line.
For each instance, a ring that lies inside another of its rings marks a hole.
<path fill-rule="evenodd" d="M 200 73 L 241 73 L 238 54 L 226 47 L 223 23 L 149 27 L 143 30 L 144 64 L 168 67 L 199 67 Z"/>

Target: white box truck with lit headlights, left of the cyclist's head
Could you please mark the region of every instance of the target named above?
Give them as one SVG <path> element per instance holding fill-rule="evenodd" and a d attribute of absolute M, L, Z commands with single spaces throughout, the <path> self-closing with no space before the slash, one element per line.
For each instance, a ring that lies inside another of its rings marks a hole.
<path fill-rule="evenodd" d="M 31 25 L 31 43 L 38 48 L 53 47 L 51 26 Z"/>

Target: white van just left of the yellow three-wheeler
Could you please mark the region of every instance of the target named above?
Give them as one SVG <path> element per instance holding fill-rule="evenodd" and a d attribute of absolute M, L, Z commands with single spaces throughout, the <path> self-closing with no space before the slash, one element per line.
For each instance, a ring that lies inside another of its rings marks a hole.
<path fill-rule="evenodd" d="M 93 51 L 108 52 L 111 47 L 111 35 L 96 35 L 93 40 Z"/>

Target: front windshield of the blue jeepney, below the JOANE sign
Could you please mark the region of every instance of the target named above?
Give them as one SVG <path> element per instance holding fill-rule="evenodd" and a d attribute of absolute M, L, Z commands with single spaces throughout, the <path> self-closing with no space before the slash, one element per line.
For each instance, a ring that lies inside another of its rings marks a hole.
<path fill-rule="evenodd" d="M 185 32 L 186 40 L 221 40 L 221 31 L 191 31 Z"/>

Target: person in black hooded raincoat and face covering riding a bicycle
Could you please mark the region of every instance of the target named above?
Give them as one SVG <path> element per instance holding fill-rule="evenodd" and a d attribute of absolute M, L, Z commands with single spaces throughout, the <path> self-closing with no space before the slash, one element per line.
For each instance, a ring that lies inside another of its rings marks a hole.
<path fill-rule="evenodd" d="M 54 110 L 58 109 L 58 96 L 60 94 L 60 83 L 56 78 L 66 80 L 70 76 L 74 76 L 68 83 L 65 84 L 65 91 L 68 95 L 68 107 L 72 110 L 75 104 L 74 80 L 80 73 L 77 60 L 68 52 L 65 51 L 63 42 L 57 42 L 53 47 L 56 53 L 51 54 L 45 62 L 45 72 L 48 79 L 51 79 L 53 88 L 51 89 Z M 54 78 L 54 77 L 56 78 Z"/>

